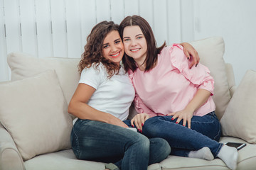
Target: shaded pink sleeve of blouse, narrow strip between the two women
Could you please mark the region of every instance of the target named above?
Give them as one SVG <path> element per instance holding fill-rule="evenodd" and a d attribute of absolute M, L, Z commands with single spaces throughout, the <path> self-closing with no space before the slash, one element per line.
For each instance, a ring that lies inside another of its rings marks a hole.
<path fill-rule="evenodd" d="M 132 72 L 132 70 L 129 70 L 128 74 L 129 74 L 129 79 L 132 82 L 132 86 L 134 86 L 134 83 L 133 83 L 134 72 Z M 146 107 L 146 105 L 143 103 L 142 98 L 140 98 L 139 95 L 137 94 L 135 87 L 134 89 L 135 89 L 134 107 L 137 113 L 148 113 L 151 117 L 156 116 L 156 113 L 151 111 L 151 109 Z"/>

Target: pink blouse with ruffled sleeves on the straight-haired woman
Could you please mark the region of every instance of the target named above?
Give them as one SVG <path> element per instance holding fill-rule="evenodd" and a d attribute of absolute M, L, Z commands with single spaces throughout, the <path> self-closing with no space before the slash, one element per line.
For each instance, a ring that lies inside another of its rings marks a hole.
<path fill-rule="evenodd" d="M 129 70 L 129 78 L 136 91 L 134 106 L 138 113 L 151 116 L 166 115 L 183 110 L 198 89 L 206 89 L 213 95 L 214 80 L 203 64 L 189 69 L 189 61 L 178 44 L 164 47 L 158 55 L 156 67 L 149 72 Z M 215 111 L 210 96 L 193 115 L 203 116 Z"/>

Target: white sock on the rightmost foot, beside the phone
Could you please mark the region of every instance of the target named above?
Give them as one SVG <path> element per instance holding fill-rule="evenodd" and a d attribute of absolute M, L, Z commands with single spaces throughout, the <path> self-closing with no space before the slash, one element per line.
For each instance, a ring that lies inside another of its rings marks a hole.
<path fill-rule="evenodd" d="M 238 150 L 235 147 L 223 145 L 217 157 L 223 160 L 230 169 L 236 169 L 238 164 Z"/>

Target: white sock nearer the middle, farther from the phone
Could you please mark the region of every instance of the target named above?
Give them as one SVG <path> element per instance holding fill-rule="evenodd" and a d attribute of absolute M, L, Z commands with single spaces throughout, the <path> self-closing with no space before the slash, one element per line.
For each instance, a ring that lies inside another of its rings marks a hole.
<path fill-rule="evenodd" d="M 203 147 L 197 151 L 191 151 L 189 152 L 188 157 L 206 159 L 208 161 L 214 159 L 213 154 L 208 147 Z"/>

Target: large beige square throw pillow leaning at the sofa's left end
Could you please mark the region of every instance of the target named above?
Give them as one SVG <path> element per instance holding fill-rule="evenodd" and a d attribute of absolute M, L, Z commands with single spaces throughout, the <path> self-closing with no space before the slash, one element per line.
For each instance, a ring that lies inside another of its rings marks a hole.
<path fill-rule="evenodd" d="M 68 104 L 53 70 L 0 84 L 0 121 L 24 160 L 70 148 Z"/>

